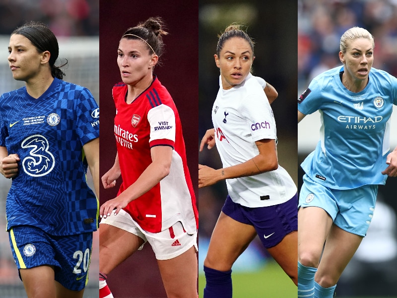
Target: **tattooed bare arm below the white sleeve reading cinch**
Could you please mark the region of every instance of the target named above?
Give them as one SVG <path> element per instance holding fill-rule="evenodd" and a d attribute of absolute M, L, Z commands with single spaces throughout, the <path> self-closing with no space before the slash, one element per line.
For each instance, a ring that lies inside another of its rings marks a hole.
<path fill-rule="evenodd" d="M 275 140 L 264 139 L 255 144 L 259 154 L 246 162 L 217 170 L 199 164 L 199 187 L 209 186 L 225 179 L 254 176 L 277 169 Z"/>

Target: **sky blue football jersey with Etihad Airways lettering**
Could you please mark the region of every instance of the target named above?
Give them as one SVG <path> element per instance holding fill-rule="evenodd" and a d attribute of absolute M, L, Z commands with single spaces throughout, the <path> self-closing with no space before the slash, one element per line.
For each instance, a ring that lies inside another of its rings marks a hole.
<path fill-rule="evenodd" d="M 300 112 L 319 110 L 321 115 L 321 139 L 302 168 L 332 189 L 385 184 L 387 175 L 381 172 L 390 152 L 397 79 L 372 68 L 367 86 L 354 93 L 342 84 L 342 72 L 343 67 L 337 67 L 318 75 L 298 98 Z"/>

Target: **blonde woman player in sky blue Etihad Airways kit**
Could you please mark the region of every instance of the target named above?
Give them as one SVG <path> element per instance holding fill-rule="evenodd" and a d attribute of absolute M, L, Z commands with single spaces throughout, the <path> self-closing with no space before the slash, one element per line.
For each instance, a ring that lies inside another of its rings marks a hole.
<path fill-rule="evenodd" d="M 397 79 L 372 68 L 374 38 L 363 28 L 340 38 L 343 66 L 315 77 L 298 98 L 298 122 L 320 111 L 321 140 L 302 163 L 298 297 L 331 298 L 365 236 L 378 185 L 397 176 L 390 117 Z"/>

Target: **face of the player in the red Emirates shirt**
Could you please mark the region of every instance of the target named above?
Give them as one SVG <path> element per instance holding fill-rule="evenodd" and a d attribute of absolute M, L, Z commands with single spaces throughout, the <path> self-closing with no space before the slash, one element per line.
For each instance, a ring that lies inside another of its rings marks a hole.
<path fill-rule="evenodd" d="M 143 78 L 152 76 L 157 56 L 149 53 L 143 41 L 122 38 L 117 53 L 121 78 L 126 84 L 135 85 Z"/>

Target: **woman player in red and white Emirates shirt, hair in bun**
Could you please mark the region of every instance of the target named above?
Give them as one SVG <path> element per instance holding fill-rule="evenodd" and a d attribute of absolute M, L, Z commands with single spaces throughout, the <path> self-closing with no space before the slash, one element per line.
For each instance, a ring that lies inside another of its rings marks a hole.
<path fill-rule="evenodd" d="M 197 298 L 197 208 L 178 111 L 153 75 L 163 52 L 162 20 L 129 28 L 117 50 L 122 82 L 113 87 L 117 155 L 105 189 L 123 177 L 100 208 L 100 298 L 106 276 L 149 242 L 168 297 Z"/>

